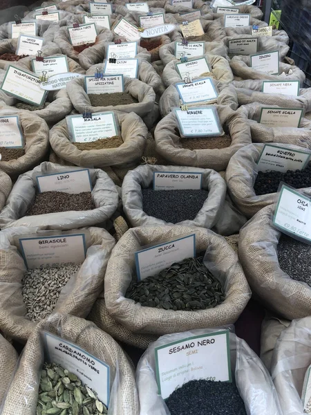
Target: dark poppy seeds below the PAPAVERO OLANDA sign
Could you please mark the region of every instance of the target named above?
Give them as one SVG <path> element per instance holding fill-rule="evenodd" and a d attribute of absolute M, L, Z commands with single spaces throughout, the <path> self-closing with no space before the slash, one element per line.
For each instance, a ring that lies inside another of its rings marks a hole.
<path fill-rule="evenodd" d="M 208 194 L 207 190 L 142 189 L 142 209 L 147 215 L 169 223 L 191 221 Z"/>

